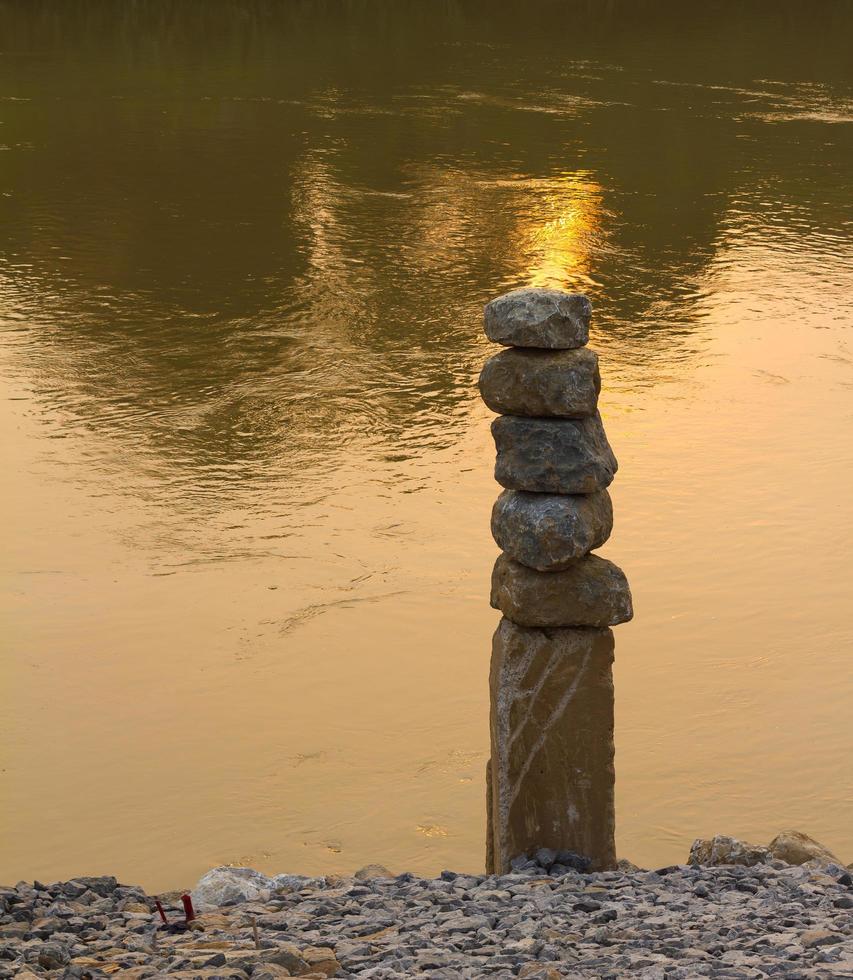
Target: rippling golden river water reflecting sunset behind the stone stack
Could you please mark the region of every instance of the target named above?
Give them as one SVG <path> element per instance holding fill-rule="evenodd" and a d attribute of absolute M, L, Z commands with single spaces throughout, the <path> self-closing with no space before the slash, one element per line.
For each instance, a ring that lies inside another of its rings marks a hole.
<path fill-rule="evenodd" d="M 0 879 L 482 868 L 524 284 L 595 307 L 619 854 L 853 860 L 853 10 L 701 6 L 0 4 Z"/>

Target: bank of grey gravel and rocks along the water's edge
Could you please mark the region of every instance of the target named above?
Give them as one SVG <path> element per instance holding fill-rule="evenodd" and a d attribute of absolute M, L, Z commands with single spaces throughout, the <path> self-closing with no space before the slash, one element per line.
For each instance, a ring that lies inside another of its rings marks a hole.
<path fill-rule="evenodd" d="M 0 977 L 853 978 L 848 868 L 731 838 L 691 855 L 744 863 L 587 874 L 545 851 L 488 877 L 220 868 L 189 924 L 180 893 L 159 896 L 168 926 L 114 878 L 21 883 L 0 889 Z"/>

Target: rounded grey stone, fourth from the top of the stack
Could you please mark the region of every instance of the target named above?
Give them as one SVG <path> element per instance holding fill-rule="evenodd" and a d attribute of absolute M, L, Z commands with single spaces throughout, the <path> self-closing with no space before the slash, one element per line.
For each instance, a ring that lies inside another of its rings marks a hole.
<path fill-rule="evenodd" d="M 606 490 L 592 494 L 504 490 L 492 508 L 492 537 L 510 558 L 553 572 L 600 548 L 613 530 Z"/>

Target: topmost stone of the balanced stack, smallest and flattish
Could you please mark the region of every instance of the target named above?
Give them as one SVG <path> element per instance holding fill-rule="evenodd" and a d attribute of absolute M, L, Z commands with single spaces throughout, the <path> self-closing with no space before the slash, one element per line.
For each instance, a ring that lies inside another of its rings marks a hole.
<path fill-rule="evenodd" d="M 486 336 L 504 347 L 583 347 L 591 313 L 592 304 L 580 293 L 514 289 L 486 304 Z"/>

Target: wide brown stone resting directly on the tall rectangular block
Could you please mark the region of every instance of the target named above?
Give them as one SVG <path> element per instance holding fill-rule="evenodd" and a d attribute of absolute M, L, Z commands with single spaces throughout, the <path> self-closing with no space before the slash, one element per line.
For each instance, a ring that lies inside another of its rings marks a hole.
<path fill-rule="evenodd" d="M 519 626 L 615 626 L 634 615 L 625 573 L 598 555 L 537 572 L 507 555 L 492 571 L 492 606 Z"/>

